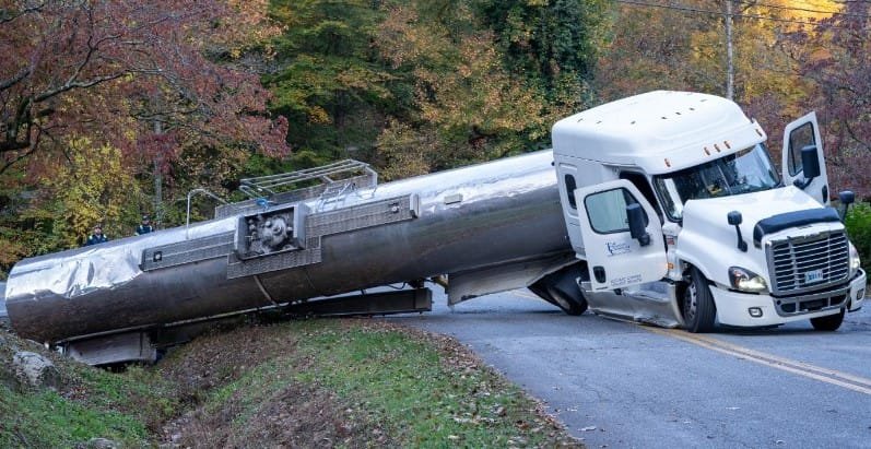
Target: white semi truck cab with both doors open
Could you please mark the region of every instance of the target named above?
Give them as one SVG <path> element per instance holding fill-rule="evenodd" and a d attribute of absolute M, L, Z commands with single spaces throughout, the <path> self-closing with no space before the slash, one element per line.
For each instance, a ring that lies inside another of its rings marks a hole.
<path fill-rule="evenodd" d="M 733 102 L 697 93 L 558 121 L 554 167 L 589 308 L 693 332 L 803 319 L 835 330 L 858 310 L 866 273 L 828 206 L 815 115 L 786 127 L 780 170 L 765 141 Z"/>

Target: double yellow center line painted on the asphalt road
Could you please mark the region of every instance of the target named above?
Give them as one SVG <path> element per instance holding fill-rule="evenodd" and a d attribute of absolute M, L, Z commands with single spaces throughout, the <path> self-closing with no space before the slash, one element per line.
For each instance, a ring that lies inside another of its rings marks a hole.
<path fill-rule="evenodd" d="M 760 365 L 765 365 L 775 369 L 780 369 L 782 371 L 792 373 L 795 375 L 871 395 L 871 379 L 864 377 L 854 376 L 835 369 L 824 368 L 803 362 L 792 361 L 773 354 L 754 351 L 711 336 L 688 333 L 682 330 L 657 329 L 649 327 L 643 327 L 643 329 L 659 335 L 671 336 L 673 339 L 693 343 L 711 351 L 757 363 Z"/>

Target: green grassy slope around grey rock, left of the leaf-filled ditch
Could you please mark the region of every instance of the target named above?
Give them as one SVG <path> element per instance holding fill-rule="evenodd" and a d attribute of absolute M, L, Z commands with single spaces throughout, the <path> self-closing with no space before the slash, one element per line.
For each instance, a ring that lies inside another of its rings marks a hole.
<path fill-rule="evenodd" d="M 61 387 L 27 389 L 12 381 L 13 347 L 42 352 L 60 373 Z M 177 410 L 172 386 L 132 368 L 116 375 L 47 354 L 0 331 L 0 447 L 62 448 L 102 437 L 126 447 L 150 438 L 149 426 Z"/>

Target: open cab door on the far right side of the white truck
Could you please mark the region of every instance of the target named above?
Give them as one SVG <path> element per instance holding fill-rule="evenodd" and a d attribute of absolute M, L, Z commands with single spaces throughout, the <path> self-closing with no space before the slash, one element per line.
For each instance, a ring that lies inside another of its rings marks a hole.
<path fill-rule="evenodd" d="M 820 161 L 820 176 L 808 181 L 804 177 L 804 166 L 801 159 L 802 149 L 816 147 L 816 157 Z M 787 125 L 784 129 L 784 184 L 795 185 L 803 189 L 823 205 L 828 205 L 828 176 L 826 175 L 825 157 L 823 156 L 823 140 L 820 139 L 820 126 L 816 123 L 816 114 L 807 116 Z"/>

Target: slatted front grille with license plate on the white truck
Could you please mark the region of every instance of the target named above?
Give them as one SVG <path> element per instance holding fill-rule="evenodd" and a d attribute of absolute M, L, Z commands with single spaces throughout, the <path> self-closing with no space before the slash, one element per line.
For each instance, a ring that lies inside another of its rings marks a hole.
<path fill-rule="evenodd" d="M 843 231 L 772 241 L 768 247 L 773 293 L 799 293 L 844 281 L 849 275 L 849 264 L 847 235 Z"/>

